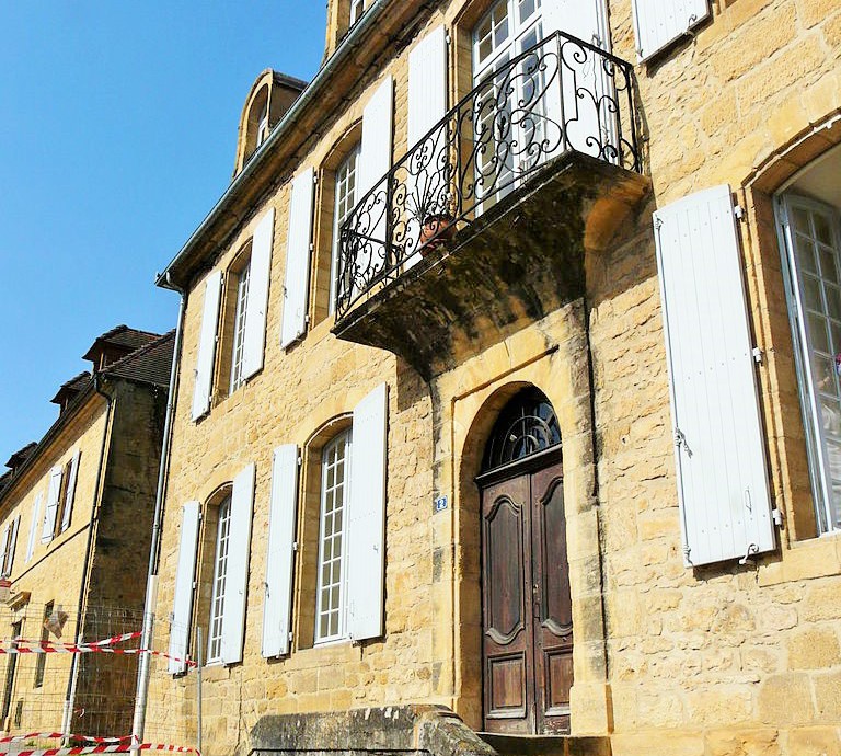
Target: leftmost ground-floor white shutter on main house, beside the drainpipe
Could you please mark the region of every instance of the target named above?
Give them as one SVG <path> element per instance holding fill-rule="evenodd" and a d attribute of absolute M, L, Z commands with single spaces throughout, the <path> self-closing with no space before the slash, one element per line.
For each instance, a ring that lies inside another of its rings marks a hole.
<path fill-rule="evenodd" d="M 175 595 L 170 627 L 170 656 L 168 669 L 177 675 L 186 671 L 189 644 L 189 626 L 193 617 L 193 582 L 196 577 L 196 549 L 201 505 L 187 502 L 181 518 L 178 565 L 175 571 Z"/>

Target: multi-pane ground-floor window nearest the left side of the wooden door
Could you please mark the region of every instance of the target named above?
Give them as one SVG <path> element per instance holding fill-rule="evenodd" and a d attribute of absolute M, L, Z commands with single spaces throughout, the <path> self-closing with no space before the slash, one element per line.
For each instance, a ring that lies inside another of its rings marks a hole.
<path fill-rule="evenodd" d="M 315 642 L 344 638 L 345 552 L 350 461 L 350 432 L 346 431 L 322 453 L 321 525 L 319 536 L 319 587 L 315 611 Z"/>

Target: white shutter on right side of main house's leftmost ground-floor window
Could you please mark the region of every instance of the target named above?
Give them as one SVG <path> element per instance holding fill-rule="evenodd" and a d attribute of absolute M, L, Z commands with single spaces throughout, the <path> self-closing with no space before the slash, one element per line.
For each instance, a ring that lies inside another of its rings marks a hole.
<path fill-rule="evenodd" d="M 249 591 L 249 551 L 254 511 L 254 463 L 233 479 L 231 525 L 228 534 L 228 572 L 224 579 L 221 656 L 224 664 L 242 661 L 245 637 L 245 596 Z"/>

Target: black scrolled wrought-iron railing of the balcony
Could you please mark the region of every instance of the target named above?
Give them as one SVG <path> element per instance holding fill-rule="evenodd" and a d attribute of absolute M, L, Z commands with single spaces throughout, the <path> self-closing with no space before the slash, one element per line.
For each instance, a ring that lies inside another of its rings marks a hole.
<path fill-rule="evenodd" d="M 640 172 L 633 67 L 557 32 L 491 71 L 357 203 L 339 232 L 336 312 L 569 150 Z"/>

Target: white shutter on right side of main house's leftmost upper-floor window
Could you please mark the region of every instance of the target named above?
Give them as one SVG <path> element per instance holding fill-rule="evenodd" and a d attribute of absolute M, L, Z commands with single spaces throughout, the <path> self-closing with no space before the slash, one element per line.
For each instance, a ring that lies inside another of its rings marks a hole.
<path fill-rule="evenodd" d="M 268 279 L 272 270 L 272 244 L 275 238 L 275 208 L 269 207 L 254 230 L 251 242 L 249 298 L 245 303 L 245 339 L 242 346 L 242 377 L 251 378 L 263 368 L 266 345 L 266 310 Z"/>

